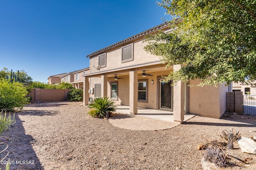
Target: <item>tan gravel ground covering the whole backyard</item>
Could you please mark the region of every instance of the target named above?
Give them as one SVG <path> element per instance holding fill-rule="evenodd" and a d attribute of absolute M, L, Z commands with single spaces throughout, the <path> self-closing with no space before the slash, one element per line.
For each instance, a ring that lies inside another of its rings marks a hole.
<path fill-rule="evenodd" d="M 25 106 L 16 113 L 14 126 L 2 135 L 10 139 L 6 141 L 10 151 L 7 158 L 13 161 L 10 169 L 200 170 L 204 150 L 197 150 L 197 145 L 220 140 L 221 131 L 230 128 L 244 137 L 256 135 L 256 115 L 226 113 L 221 119 L 196 116 L 172 129 L 135 131 L 89 117 L 87 111 L 82 102 Z M 234 150 L 227 152 L 250 164 L 232 158 L 235 165 L 226 169 L 256 168 L 256 156 L 241 153 L 236 143 Z"/>

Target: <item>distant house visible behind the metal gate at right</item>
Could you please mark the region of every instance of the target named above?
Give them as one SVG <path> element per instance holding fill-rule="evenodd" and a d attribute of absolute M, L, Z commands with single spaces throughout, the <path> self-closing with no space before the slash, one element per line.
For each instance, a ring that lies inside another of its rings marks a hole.
<path fill-rule="evenodd" d="M 253 94 L 256 95 L 256 81 L 252 83 L 232 83 L 233 92 L 240 91 L 243 92 L 243 94 Z"/>

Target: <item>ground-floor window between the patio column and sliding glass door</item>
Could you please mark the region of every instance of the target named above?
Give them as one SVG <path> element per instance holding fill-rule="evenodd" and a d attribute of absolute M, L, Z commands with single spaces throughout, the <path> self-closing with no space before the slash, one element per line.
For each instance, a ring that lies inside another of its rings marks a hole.
<path fill-rule="evenodd" d="M 138 102 L 148 102 L 148 79 L 138 80 Z"/>

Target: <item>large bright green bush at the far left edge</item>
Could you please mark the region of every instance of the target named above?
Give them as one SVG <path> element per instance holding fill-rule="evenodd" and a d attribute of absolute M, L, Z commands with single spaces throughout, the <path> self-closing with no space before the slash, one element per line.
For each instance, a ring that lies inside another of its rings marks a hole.
<path fill-rule="evenodd" d="M 13 111 L 14 108 L 22 109 L 27 102 L 26 87 L 20 82 L 0 79 L 0 109 Z"/>

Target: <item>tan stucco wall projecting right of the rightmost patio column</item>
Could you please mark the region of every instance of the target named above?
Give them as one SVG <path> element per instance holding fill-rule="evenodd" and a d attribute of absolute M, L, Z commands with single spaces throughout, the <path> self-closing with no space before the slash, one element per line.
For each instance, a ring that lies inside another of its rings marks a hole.
<path fill-rule="evenodd" d="M 190 84 L 199 84 L 192 80 Z M 228 86 L 192 86 L 189 88 L 189 111 L 200 116 L 220 118 L 226 111 Z"/>

